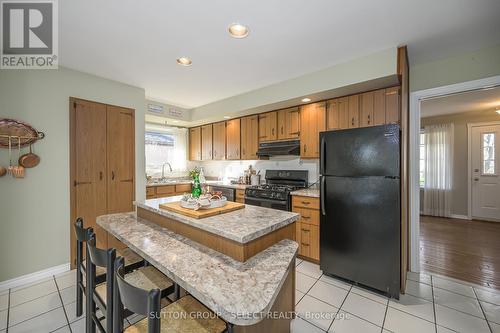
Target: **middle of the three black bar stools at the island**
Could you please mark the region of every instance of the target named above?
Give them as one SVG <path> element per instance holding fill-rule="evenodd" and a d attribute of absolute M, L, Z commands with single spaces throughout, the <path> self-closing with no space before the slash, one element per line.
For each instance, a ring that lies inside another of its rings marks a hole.
<path fill-rule="evenodd" d="M 89 253 L 87 276 L 87 321 L 86 332 L 95 332 L 96 327 L 100 332 L 113 331 L 113 293 L 115 289 L 114 262 L 117 251 L 115 249 L 99 249 L 96 247 L 95 234 L 90 234 L 87 241 Z M 106 281 L 97 285 L 96 267 L 106 270 Z M 167 296 L 175 291 L 174 283 L 153 266 L 140 267 L 125 275 L 125 279 L 139 288 L 161 290 L 161 295 Z M 170 303 L 170 301 L 168 302 Z M 97 309 L 104 315 L 99 318 Z M 132 314 L 132 312 L 124 312 Z M 101 320 L 106 319 L 106 328 Z"/>

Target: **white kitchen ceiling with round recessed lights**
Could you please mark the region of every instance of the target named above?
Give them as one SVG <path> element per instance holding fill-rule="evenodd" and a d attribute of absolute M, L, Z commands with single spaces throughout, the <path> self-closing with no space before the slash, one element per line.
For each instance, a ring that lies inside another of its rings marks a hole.
<path fill-rule="evenodd" d="M 498 13 L 497 0 L 60 1 L 59 63 L 193 108 L 401 44 L 412 64 L 494 45 Z M 229 37 L 233 22 L 249 36 Z"/>

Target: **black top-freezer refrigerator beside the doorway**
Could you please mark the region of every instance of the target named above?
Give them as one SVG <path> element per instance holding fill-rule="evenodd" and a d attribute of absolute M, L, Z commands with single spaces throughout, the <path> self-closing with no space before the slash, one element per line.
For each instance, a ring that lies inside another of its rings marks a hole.
<path fill-rule="evenodd" d="M 400 128 L 320 133 L 320 268 L 399 299 Z"/>

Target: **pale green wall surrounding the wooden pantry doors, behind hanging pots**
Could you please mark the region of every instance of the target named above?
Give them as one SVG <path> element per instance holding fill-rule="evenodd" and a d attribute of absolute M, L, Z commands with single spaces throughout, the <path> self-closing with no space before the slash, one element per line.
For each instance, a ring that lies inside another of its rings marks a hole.
<path fill-rule="evenodd" d="M 0 117 L 46 134 L 38 167 L 0 178 L 0 281 L 69 262 L 70 96 L 136 110 L 136 197 L 145 198 L 144 89 L 64 68 L 0 70 Z M 0 149 L 0 165 L 8 162 Z"/>

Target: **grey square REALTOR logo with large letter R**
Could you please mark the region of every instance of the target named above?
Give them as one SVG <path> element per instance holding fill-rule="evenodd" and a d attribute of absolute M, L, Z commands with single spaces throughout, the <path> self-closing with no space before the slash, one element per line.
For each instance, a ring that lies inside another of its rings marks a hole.
<path fill-rule="evenodd" d="M 57 0 L 3 0 L 1 69 L 56 69 Z"/>

